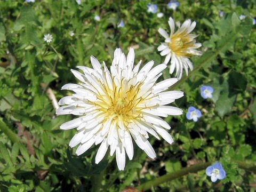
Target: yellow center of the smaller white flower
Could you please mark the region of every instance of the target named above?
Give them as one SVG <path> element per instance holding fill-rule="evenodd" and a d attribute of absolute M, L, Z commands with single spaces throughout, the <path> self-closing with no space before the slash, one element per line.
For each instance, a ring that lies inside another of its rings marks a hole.
<path fill-rule="evenodd" d="M 170 49 L 178 56 L 191 57 L 193 54 L 187 52 L 190 47 L 193 47 L 195 41 L 191 38 L 190 34 L 183 31 L 179 34 L 173 34 L 171 37 L 171 43 L 169 43 Z"/>

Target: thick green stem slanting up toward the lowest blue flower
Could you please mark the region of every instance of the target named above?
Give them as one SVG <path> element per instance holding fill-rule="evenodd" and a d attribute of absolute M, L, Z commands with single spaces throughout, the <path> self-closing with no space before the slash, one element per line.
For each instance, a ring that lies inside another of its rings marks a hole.
<path fill-rule="evenodd" d="M 186 175 L 188 173 L 194 173 L 197 171 L 204 170 L 204 169 L 206 169 L 207 166 L 210 166 L 210 165 L 211 165 L 211 162 L 199 163 L 196 165 L 192 165 L 190 167 L 183 168 L 174 173 L 169 173 L 169 174 L 163 175 L 161 177 L 158 177 L 156 179 L 153 179 L 151 181 L 145 182 L 142 185 L 138 186 L 137 189 L 142 190 L 142 191 L 148 190 L 148 189 L 151 189 L 151 187 L 158 186 L 166 181 L 177 179 L 177 178 L 182 177 L 183 175 Z"/>

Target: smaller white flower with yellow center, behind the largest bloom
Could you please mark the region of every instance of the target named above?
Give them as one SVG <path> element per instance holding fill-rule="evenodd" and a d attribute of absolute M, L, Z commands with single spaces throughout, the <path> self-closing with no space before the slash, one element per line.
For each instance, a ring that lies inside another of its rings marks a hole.
<path fill-rule="evenodd" d="M 201 47 L 201 43 L 196 43 L 195 38 L 197 35 L 190 34 L 191 31 L 196 27 L 196 22 L 188 19 L 180 26 L 180 22 L 177 22 L 178 30 L 174 33 L 175 24 L 174 20 L 169 18 L 169 26 L 171 34 L 159 28 L 159 33 L 165 38 L 165 43 L 158 46 L 158 51 L 161 51 L 161 55 L 165 57 L 164 63 L 167 64 L 171 60 L 170 74 L 176 69 L 175 76 L 180 79 L 182 77 L 183 68 L 188 75 L 188 68 L 193 70 L 193 63 L 188 59 L 193 55 L 201 55 L 202 52 L 196 50 Z"/>

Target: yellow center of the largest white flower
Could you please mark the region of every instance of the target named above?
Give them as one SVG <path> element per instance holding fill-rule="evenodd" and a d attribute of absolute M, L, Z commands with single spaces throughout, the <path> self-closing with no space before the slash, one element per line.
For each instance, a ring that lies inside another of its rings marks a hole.
<path fill-rule="evenodd" d="M 131 119 L 143 118 L 141 110 L 150 108 L 146 106 L 138 107 L 138 104 L 144 102 L 148 96 L 143 95 L 141 97 L 138 95 L 143 83 L 138 82 L 133 85 L 129 81 L 123 78 L 120 86 L 117 86 L 113 81 L 113 90 L 100 83 L 105 94 L 98 95 L 98 101 L 91 101 L 95 106 L 100 107 L 98 110 L 108 114 L 109 118 L 114 120 L 121 118 L 125 126 L 129 124 Z"/>

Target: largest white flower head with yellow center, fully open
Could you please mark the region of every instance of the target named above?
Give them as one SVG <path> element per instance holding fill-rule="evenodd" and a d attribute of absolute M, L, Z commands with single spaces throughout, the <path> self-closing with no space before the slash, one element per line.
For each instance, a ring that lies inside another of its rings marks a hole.
<path fill-rule="evenodd" d="M 151 69 L 154 61 L 150 61 L 139 71 L 141 61 L 133 67 L 132 48 L 127 58 L 121 49 L 115 50 L 110 71 L 105 62 L 101 67 L 93 56 L 91 63 L 93 69 L 77 67 L 84 74 L 71 69 L 82 83 L 62 87 L 62 90 L 75 93 L 60 99 L 59 105 L 66 106 L 57 109 L 59 115 L 81 116 L 60 126 L 63 130 L 77 129 L 78 132 L 69 143 L 70 147 L 79 145 L 77 155 L 101 143 L 95 163 L 101 161 L 110 147 L 110 155 L 116 153 L 119 170 L 124 170 L 125 154 L 129 159 L 133 158 L 132 138 L 151 158 L 155 158 L 156 154 L 147 140 L 148 133 L 157 139 L 159 134 L 170 144 L 173 143 L 171 135 L 165 130 L 169 130 L 170 125 L 159 116 L 181 115 L 181 109 L 165 105 L 181 98 L 183 92 L 166 91 L 178 81 L 177 78 L 156 83 L 166 65 L 157 65 Z"/>

